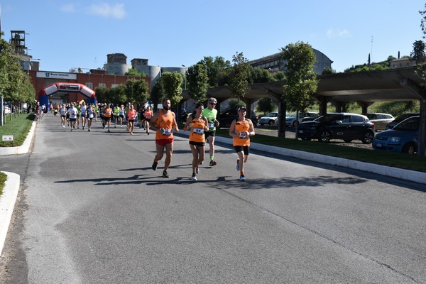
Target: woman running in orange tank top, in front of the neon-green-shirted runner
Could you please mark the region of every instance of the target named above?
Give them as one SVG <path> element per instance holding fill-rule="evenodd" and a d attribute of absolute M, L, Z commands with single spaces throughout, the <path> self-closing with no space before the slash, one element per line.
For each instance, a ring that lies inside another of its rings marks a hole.
<path fill-rule="evenodd" d="M 200 173 L 199 165 L 204 161 L 204 146 L 206 139 L 204 132 L 209 130 L 209 121 L 202 116 L 204 106 L 198 103 L 195 112 L 192 113 L 183 126 L 183 130 L 190 131 L 190 149 L 192 152 L 192 180 L 197 180 L 197 173 Z"/>

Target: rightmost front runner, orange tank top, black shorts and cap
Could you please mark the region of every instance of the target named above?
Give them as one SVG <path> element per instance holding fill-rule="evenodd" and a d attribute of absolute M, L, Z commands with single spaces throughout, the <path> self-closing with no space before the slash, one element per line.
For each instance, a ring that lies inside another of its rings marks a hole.
<path fill-rule="evenodd" d="M 232 121 L 229 128 L 229 135 L 232 136 L 232 145 L 238 155 L 236 160 L 236 170 L 240 172 L 239 180 L 246 180 L 244 174 L 244 164 L 249 158 L 250 136 L 253 136 L 254 126 L 250 119 L 246 119 L 247 109 L 240 107 L 238 109 L 238 119 Z"/>

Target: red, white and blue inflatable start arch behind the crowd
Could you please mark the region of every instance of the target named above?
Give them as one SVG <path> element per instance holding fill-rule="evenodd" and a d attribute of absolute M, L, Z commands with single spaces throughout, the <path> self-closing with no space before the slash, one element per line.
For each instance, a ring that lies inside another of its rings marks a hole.
<path fill-rule="evenodd" d="M 38 101 L 40 105 L 45 104 L 46 107 L 49 107 L 49 99 L 48 97 L 57 92 L 65 92 L 65 93 L 80 93 L 84 97 L 89 98 L 89 104 L 97 104 L 96 96 L 94 94 L 94 90 L 80 83 L 53 83 L 50 84 L 43 89 L 40 89 L 38 92 Z"/>

